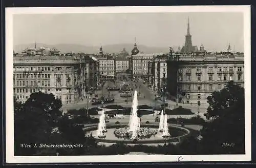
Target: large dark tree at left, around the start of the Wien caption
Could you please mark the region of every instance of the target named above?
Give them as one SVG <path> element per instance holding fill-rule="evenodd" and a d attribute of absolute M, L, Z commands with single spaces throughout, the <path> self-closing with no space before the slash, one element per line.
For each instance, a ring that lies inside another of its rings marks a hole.
<path fill-rule="evenodd" d="M 34 155 L 38 148 L 22 144 L 47 143 L 62 113 L 61 102 L 53 94 L 32 93 L 22 105 L 14 102 L 15 155 Z"/>

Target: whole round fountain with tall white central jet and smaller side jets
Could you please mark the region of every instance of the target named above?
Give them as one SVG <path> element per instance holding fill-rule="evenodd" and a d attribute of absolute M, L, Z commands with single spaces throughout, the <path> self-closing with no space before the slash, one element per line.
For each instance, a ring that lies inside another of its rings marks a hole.
<path fill-rule="evenodd" d="M 132 110 L 129 123 L 108 124 L 105 123 L 105 113 L 99 118 L 99 123 L 90 125 L 84 129 L 87 135 L 92 134 L 97 141 L 104 143 L 123 142 L 123 143 L 165 143 L 177 142 L 177 138 L 184 137 L 189 134 L 189 130 L 178 126 L 168 126 L 167 115 L 161 111 L 160 124 L 140 123 L 140 117 L 137 115 L 137 91 L 134 92 Z M 108 127 L 108 132 L 106 132 Z M 172 137 L 169 129 L 172 128 Z M 113 136 L 114 135 L 114 136 Z M 111 140 L 111 142 L 108 142 Z M 138 141 L 138 142 L 137 142 Z"/>

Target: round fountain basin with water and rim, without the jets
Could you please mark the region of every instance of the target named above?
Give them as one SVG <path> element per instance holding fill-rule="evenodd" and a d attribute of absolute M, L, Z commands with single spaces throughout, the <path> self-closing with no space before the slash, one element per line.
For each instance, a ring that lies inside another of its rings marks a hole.
<path fill-rule="evenodd" d="M 156 130 L 157 134 L 152 135 L 150 137 L 140 138 L 137 141 L 131 140 L 126 137 L 118 137 L 114 134 L 114 131 L 118 128 L 124 128 L 127 124 L 107 124 L 106 128 L 108 132 L 104 135 L 104 138 L 99 138 L 97 136 L 97 129 L 98 125 L 92 125 L 90 127 L 84 128 L 83 130 L 86 131 L 86 135 L 91 135 L 98 141 L 98 142 L 105 142 L 105 143 L 167 143 L 167 142 L 178 142 L 185 138 L 190 131 L 188 129 L 177 127 L 174 125 L 168 125 L 168 129 L 170 130 L 170 137 L 163 137 L 162 132 L 158 131 L 159 125 L 158 124 L 141 124 L 140 127 L 150 128 L 151 130 Z"/>

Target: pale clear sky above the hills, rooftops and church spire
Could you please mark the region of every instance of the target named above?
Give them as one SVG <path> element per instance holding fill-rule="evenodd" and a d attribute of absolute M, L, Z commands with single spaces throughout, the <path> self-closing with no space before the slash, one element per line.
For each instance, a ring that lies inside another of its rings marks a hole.
<path fill-rule="evenodd" d="M 243 13 L 69 13 L 14 14 L 13 43 L 99 46 L 183 46 L 189 17 L 193 45 L 208 51 L 244 51 Z"/>

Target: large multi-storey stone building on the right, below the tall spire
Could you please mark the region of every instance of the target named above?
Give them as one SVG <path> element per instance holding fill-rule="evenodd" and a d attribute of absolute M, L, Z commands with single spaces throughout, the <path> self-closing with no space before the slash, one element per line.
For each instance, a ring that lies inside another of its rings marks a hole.
<path fill-rule="evenodd" d="M 233 80 L 244 87 L 244 55 L 169 56 L 167 88 L 179 102 L 207 103 Z"/>

